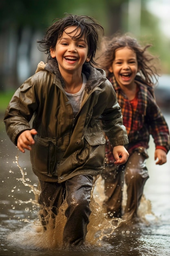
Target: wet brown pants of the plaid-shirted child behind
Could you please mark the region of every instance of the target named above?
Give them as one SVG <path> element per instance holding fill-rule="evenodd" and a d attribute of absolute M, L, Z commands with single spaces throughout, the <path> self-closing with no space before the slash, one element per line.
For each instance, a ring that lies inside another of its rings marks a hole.
<path fill-rule="evenodd" d="M 102 177 L 105 180 L 104 206 L 111 213 L 110 216 L 121 218 L 126 216 L 128 220 L 137 217 L 137 210 L 143 194 L 144 185 L 148 179 L 146 159 L 148 154 L 145 148 L 137 148 L 128 158 L 126 164 L 115 166 L 107 164 Z M 127 185 L 127 202 L 122 213 L 123 185 Z"/>

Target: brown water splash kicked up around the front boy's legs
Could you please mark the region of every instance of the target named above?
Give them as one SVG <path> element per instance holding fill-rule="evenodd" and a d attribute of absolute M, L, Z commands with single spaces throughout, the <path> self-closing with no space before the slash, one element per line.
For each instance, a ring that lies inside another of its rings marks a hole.
<path fill-rule="evenodd" d="M 18 168 L 20 169 L 20 173 L 22 175 L 21 178 L 17 178 L 20 180 L 24 186 L 29 186 L 31 192 L 33 192 L 35 198 L 29 199 L 27 201 L 18 200 L 20 204 L 29 204 L 39 207 L 38 204 L 38 196 L 40 194 L 40 189 L 37 184 L 29 184 L 27 181 L 30 181 L 26 178 L 26 173 L 22 170 L 19 164 L 19 156 L 15 157 Z M 92 196 L 91 196 L 91 215 L 90 222 L 88 224 L 88 232 L 86 235 L 86 243 L 85 247 L 93 246 L 93 247 L 104 247 L 104 238 L 109 237 L 113 231 L 119 226 L 119 224 L 123 221 L 121 218 L 108 218 L 108 214 L 102 207 L 102 204 L 99 204 L 99 197 L 97 202 L 96 191 L 94 192 L 95 184 L 93 186 Z M 102 197 L 100 198 L 100 200 Z M 17 232 L 12 232 L 8 235 L 8 240 L 15 245 L 22 248 L 27 249 L 55 249 L 61 248 L 62 245 L 62 234 L 64 230 L 64 226 L 66 223 L 65 209 L 67 207 L 66 201 L 62 204 L 59 209 L 59 213 L 55 218 L 53 218 L 53 213 L 49 210 L 46 216 L 46 231 L 41 225 L 40 221 L 40 211 L 38 211 L 38 219 L 33 220 L 32 222 L 27 218 L 23 218 L 20 221 L 28 222 L 22 229 Z M 29 211 L 29 207 L 25 208 L 25 212 Z"/>

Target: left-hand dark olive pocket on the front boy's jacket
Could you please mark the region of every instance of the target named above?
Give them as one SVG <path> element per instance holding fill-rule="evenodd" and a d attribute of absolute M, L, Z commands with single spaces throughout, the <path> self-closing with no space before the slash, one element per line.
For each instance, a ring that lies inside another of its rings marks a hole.
<path fill-rule="evenodd" d="M 30 151 L 33 168 L 44 175 L 57 175 L 55 140 L 38 135 L 35 135 L 34 140 L 35 144 Z"/>

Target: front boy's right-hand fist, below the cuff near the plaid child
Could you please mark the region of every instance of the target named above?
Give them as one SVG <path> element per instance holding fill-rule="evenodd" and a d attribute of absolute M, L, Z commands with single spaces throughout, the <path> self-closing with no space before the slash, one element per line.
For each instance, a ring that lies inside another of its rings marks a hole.
<path fill-rule="evenodd" d="M 120 165 L 126 163 L 129 153 L 124 146 L 115 146 L 113 148 L 114 164 Z"/>

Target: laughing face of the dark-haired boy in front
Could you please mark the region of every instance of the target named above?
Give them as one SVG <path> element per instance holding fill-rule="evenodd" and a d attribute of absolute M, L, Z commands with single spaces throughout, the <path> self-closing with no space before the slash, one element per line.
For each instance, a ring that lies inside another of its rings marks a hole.
<path fill-rule="evenodd" d="M 85 61 L 89 61 L 88 45 L 85 35 L 82 38 L 74 39 L 80 29 L 75 30 L 75 26 L 68 27 L 64 30 L 62 37 L 57 40 L 55 49 L 51 49 L 51 57 L 56 58 L 61 74 L 65 72 L 74 73 L 82 72 L 82 65 Z M 75 30 L 75 31 L 74 31 Z"/>

